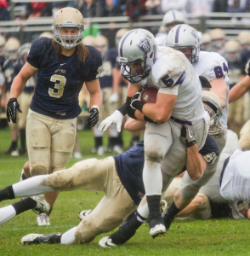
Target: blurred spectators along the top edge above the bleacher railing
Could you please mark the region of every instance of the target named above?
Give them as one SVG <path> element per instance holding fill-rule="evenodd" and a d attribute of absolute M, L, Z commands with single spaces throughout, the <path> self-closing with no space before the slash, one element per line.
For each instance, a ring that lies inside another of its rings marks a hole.
<path fill-rule="evenodd" d="M 0 21 L 10 20 L 11 0 L 0 0 Z M 202 15 L 207 12 L 249 12 L 249 0 L 71 0 L 59 2 L 15 3 L 24 12 L 15 19 L 52 16 L 58 9 L 75 7 L 83 17 L 113 17 L 127 15 L 137 20 L 141 15 L 164 15 L 176 9 L 182 13 Z"/>

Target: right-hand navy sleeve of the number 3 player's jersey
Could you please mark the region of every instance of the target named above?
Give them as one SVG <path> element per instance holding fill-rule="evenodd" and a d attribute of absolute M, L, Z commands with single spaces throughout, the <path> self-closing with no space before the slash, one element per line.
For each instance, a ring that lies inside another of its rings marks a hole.
<path fill-rule="evenodd" d="M 89 48 L 90 57 L 86 61 L 86 65 L 89 65 L 89 73 L 85 77 L 85 81 L 90 82 L 98 79 L 101 73 L 102 59 L 99 51 L 94 47 Z"/>

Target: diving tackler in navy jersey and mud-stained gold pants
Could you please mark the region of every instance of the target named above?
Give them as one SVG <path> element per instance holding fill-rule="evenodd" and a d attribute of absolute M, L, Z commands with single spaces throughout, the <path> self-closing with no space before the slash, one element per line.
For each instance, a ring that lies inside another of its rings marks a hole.
<path fill-rule="evenodd" d="M 131 123 L 131 122 L 130 122 Z M 133 124 L 130 124 L 133 125 Z M 207 147 L 207 149 L 205 148 Z M 189 151 L 190 148 L 187 148 Z M 204 148 L 200 151 L 203 157 L 207 154 L 219 154 L 217 143 L 207 137 Z M 28 165 L 28 162 L 26 163 Z M 27 165 L 24 166 L 26 176 Z M 31 234 L 22 239 L 25 244 L 31 243 L 88 243 L 95 236 L 115 229 L 139 205 L 145 189 L 142 181 L 144 166 L 144 143 L 141 142 L 127 152 L 107 157 L 104 160 L 82 160 L 67 170 L 54 172 L 50 175 L 31 177 L 26 181 L 15 183 L 0 190 L 0 201 L 20 196 L 37 195 L 48 191 L 69 191 L 84 189 L 105 192 L 105 197 L 91 211 L 83 211 L 84 217 L 77 226 L 60 234 Z M 122 201 L 122 203 L 121 203 Z M 42 207 L 41 201 L 32 196 L 8 207 L 0 209 L 0 224 L 14 216 L 31 209 Z M 44 205 L 43 211 L 50 207 Z M 87 213 L 90 213 L 88 216 Z M 104 218 L 99 218 L 100 214 Z"/>

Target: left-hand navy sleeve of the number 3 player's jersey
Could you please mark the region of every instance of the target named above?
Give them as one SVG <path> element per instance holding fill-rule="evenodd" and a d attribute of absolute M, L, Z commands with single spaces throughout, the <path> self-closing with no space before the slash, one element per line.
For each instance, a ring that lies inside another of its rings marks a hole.
<path fill-rule="evenodd" d="M 39 69 L 42 64 L 43 54 L 47 49 L 47 38 L 37 38 L 31 44 L 27 55 L 27 62 L 34 68 Z"/>

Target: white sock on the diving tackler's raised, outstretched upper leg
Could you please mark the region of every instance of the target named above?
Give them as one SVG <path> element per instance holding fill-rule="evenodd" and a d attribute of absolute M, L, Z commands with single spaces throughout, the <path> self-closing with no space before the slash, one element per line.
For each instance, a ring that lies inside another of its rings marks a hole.
<path fill-rule="evenodd" d="M 20 183 L 15 183 L 12 185 L 15 198 L 30 195 L 40 195 L 46 192 L 54 191 L 54 189 L 51 187 L 42 185 L 43 179 L 46 177 L 48 177 L 48 175 L 30 177 L 21 181 Z"/>

